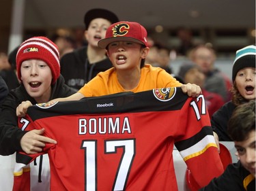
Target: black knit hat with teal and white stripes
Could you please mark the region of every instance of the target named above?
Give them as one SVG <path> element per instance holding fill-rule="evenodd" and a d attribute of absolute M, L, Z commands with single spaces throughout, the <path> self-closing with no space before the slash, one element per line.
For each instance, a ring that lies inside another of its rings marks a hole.
<path fill-rule="evenodd" d="M 235 81 L 236 74 L 245 67 L 255 68 L 256 46 L 246 46 L 236 51 L 236 59 L 233 62 L 232 80 Z"/>

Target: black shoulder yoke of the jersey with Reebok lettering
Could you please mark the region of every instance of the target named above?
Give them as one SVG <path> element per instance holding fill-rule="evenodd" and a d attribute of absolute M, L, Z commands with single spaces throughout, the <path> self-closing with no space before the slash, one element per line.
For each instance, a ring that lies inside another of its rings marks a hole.
<path fill-rule="evenodd" d="M 31 119 L 48 118 L 74 114 L 116 114 L 136 113 L 143 111 L 175 111 L 183 107 L 188 99 L 187 94 L 177 88 L 175 96 L 169 101 L 159 101 L 153 90 L 144 92 L 123 92 L 102 97 L 88 97 L 80 101 L 59 102 L 52 107 L 29 107 L 27 113 Z"/>

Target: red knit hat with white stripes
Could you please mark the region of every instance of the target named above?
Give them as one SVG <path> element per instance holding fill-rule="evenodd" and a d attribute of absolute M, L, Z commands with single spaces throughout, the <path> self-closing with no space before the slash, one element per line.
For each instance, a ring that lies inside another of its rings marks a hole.
<path fill-rule="evenodd" d="M 56 44 L 46 37 L 32 37 L 24 41 L 16 55 L 18 79 L 21 77 L 20 66 L 25 60 L 43 60 L 51 68 L 54 84 L 60 75 L 59 50 Z"/>

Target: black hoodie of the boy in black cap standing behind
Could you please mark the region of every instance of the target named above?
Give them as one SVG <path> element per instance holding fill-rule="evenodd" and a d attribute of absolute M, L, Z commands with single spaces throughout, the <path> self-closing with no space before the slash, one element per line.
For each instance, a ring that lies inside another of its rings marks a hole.
<path fill-rule="evenodd" d="M 61 75 L 68 86 L 80 90 L 89 80 L 100 71 L 113 67 L 109 58 L 98 63 L 89 63 L 87 59 L 87 46 L 64 54 L 60 60 Z"/>

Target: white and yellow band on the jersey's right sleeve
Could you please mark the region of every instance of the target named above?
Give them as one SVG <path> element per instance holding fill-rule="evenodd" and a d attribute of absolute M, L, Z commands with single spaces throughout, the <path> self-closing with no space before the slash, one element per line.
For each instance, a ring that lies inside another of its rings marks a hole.
<path fill-rule="evenodd" d="M 208 150 L 209 147 L 217 147 L 213 135 L 205 136 L 203 139 L 201 139 L 201 141 L 199 141 L 195 145 L 188 147 L 186 150 L 180 151 L 180 154 L 184 161 L 186 161 L 190 158 L 203 154 L 203 152 Z"/>

